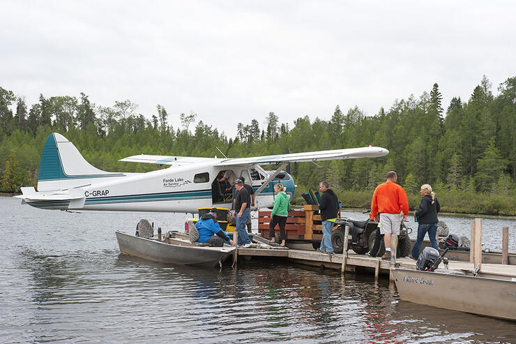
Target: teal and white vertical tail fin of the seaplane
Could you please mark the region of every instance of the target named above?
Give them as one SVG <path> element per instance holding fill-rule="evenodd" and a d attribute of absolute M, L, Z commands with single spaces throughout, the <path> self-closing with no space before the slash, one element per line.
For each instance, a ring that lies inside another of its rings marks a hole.
<path fill-rule="evenodd" d="M 123 176 L 93 167 L 66 137 L 52 133 L 41 153 L 38 191 L 65 190 L 90 185 L 92 179 Z"/>

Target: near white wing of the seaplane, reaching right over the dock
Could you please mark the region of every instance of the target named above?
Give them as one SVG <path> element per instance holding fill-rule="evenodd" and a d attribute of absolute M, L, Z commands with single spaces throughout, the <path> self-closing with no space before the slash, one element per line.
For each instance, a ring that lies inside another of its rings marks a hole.
<path fill-rule="evenodd" d="M 376 158 L 386 156 L 389 151 L 381 147 L 361 147 L 335 149 L 333 151 L 308 151 L 304 153 L 278 154 L 275 156 L 255 156 L 252 158 L 232 158 L 220 160 L 218 165 L 268 165 L 278 163 L 303 163 L 310 161 L 339 160 L 353 158 Z"/>

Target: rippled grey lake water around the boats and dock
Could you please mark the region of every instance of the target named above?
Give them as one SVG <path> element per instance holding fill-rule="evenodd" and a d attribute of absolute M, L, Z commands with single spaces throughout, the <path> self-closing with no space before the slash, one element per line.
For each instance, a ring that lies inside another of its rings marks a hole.
<path fill-rule="evenodd" d="M 168 230 L 185 216 L 45 211 L 0 197 L 0 342 L 516 341 L 514 322 L 400 301 L 393 284 L 370 275 L 271 261 L 199 269 L 120 255 L 114 230 L 132 232 L 140 218 Z M 471 219 L 441 219 L 469 234 Z M 514 251 L 515 220 L 485 220 L 484 241 L 497 248 L 502 225 Z"/>

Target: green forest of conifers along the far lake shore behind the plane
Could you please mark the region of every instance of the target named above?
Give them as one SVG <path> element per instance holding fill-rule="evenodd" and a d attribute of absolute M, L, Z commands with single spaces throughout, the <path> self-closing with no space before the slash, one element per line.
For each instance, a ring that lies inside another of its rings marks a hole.
<path fill-rule="evenodd" d="M 516 203 L 516 77 L 502 82 L 497 91 L 492 93 L 492 84 L 484 76 L 469 99 L 454 97 L 445 111 L 436 83 L 430 92 L 395 100 L 390 108 L 381 107 L 371 116 L 358 106 L 343 112 L 337 105 L 329 119 L 305 115 L 281 123 L 278 115 L 269 112 L 261 123 L 257 119 L 239 123 L 236 137 L 227 137 L 197 121 L 194 112 L 171 115 L 159 104 L 150 117 L 139 113 L 130 100 L 104 107 L 91 103 L 83 93 L 50 98 L 41 94 L 38 103 L 28 106 L 23 96 L 0 87 L 0 190 L 13 193 L 20 186 L 35 186 L 45 139 L 59 132 L 92 165 L 113 172 L 160 168 L 117 161 L 142 153 L 220 156 L 220 149 L 236 158 L 372 144 L 390 154 L 292 164 L 299 190 L 317 188 L 319 181 L 327 179 L 342 195 L 368 195 L 384 181 L 387 171 L 395 170 L 408 194 L 417 194 L 421 184 L 431 184 L 437 193 L 450 197 L 459 194 Z M 171 116 L 179 117 L 180 128 L 169 124 Z M 192 124 L 195 127 L 190 128 Z M 367 204 L 367 200 L 356 202 Z M 514 207 L 487 212 L 516 214 Z"/>

